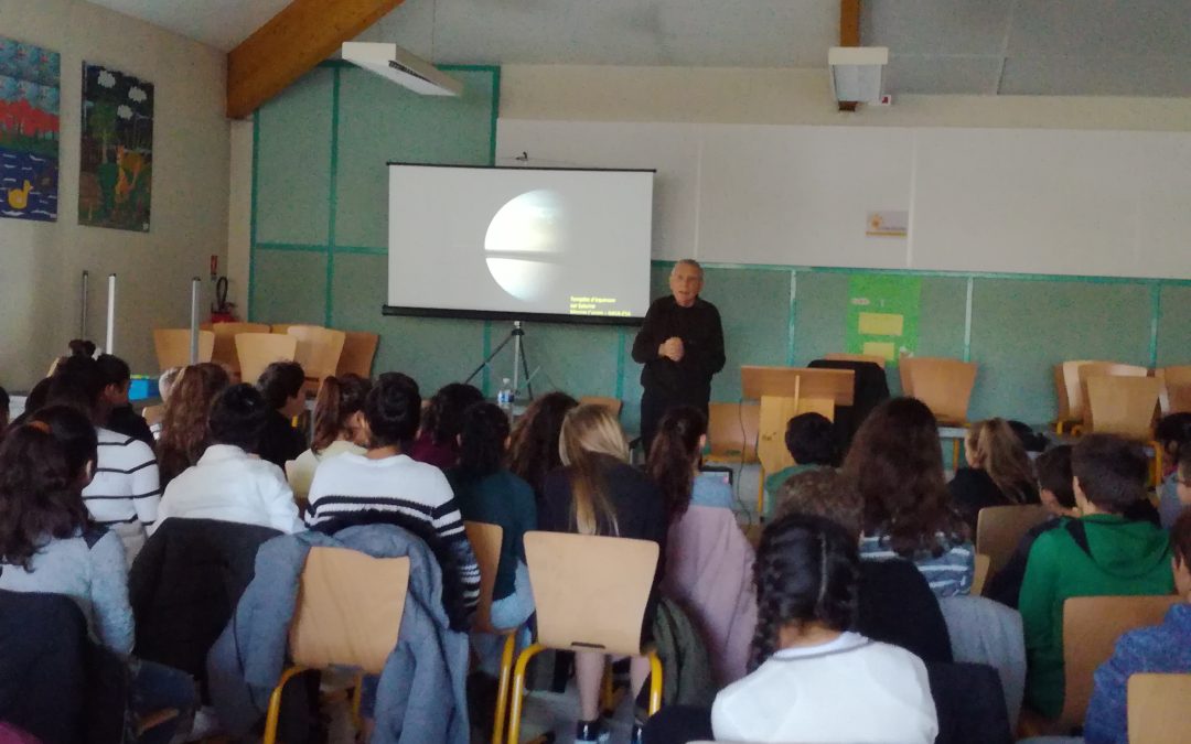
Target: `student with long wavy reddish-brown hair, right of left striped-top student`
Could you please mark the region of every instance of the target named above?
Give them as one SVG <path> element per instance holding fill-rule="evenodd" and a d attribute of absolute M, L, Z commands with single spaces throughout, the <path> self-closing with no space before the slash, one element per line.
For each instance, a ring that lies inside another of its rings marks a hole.
<path fill-rule="evenodd" d="M 157 439 L 161 487 L 199 462 L 207 451 L 211 404 L 231 380 L 224 368 L 211 362 L 183 368 L 166 399 Z"/>

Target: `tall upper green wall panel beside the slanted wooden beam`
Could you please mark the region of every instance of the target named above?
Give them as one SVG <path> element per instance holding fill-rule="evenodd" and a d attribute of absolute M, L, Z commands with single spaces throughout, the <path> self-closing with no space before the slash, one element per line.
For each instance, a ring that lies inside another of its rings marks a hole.
<path fill-rule="evenodd" d="M 333 83 L 316 68 L 256 112 L 257 244 L 328 240 Z"/>

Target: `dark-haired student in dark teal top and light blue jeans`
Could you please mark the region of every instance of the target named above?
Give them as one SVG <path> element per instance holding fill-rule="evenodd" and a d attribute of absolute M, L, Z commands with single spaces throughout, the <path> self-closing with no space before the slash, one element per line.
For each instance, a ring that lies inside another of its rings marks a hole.
<path fill-rule="evenodd" d="M 459 465 L 447 471 L 463 519 L 498 525 L 500 563 L 492 587 L 492 626 L 520 627 L 534 614 L 534 593 L 525 567 L 525 532 L 537 529 L 537 505 L 529 483 L 503 465 L 509 417 L 499 406 L 478 402 L 463 412 Z M 500 639 L 473 633 L 481 670 L 500 671 Z"/>

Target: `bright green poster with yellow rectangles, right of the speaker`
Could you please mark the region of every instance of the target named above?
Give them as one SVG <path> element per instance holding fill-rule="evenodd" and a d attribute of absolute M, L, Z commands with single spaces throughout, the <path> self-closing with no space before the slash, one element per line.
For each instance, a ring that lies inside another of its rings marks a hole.
<path fill-rule="evenodd" d="M 856 274 L 848 281 L 847 348 L 897 364 L 918 346 L 922 280 L 916 276 Z"/>

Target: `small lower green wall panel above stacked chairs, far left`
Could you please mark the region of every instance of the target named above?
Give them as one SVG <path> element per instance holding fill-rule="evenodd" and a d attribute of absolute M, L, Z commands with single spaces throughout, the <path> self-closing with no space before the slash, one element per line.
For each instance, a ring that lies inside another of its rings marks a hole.
<path fill-rule="evenodd" d="M 252 320 L 323 325 L 326 254 L 263 250 L 252 254 Z"/>

